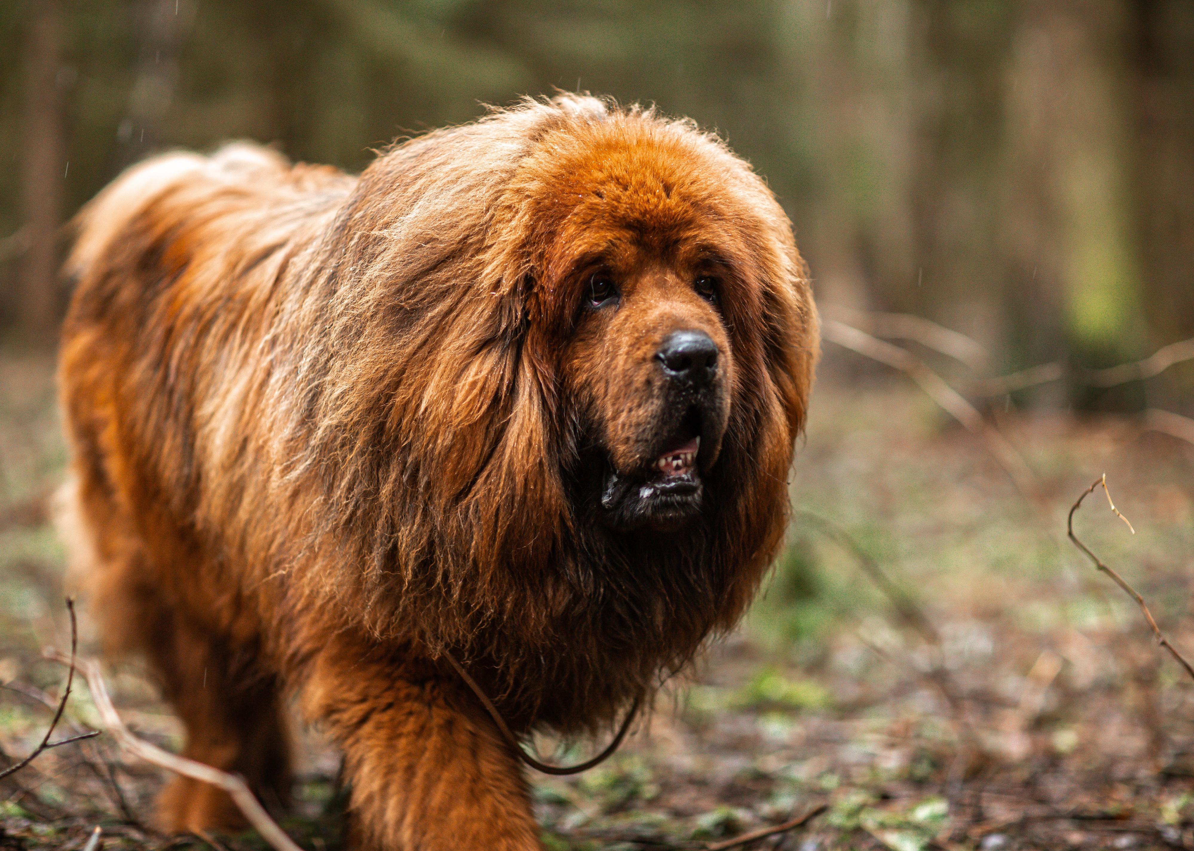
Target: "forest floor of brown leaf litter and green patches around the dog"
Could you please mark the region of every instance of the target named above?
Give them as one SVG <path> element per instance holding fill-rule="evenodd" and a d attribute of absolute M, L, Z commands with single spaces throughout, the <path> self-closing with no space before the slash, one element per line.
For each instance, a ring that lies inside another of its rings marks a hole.
<path fill-rule="evenodd" d="M 1101 489 L 1076 531 L 1194 655 L 1194 446 L 1124 418 L 1001 406 L 1036 476 L 1032 501 L 915 388 L 845 376 L 817 390 L 788 547 L 746 622 L 608 763 L 533 778 L 548 847 L 703 849 L 825 807 L 752 847 L 1194 849 L 1194 683 L 1065 536 L 1070 506 L 1106 473 L 1135 535 Z M 42 739 L 62 689 L 41 650 L 68 646 L 63 554 L 43 508 L 63 461 L 49 362 L 0 359 L 10 760 Z M 91 653 L 85 612 L 80 625 Z M 107 682 L 141 736 L 179 746 L 135 665 L 107 668 Z M 55 736 L 97 727 L 76 682 Z M 297 801 L 279 821 L 306 849 L 336 849 L 337 757 L 303 739 Z M 0 849 L 81 849 L 97 825 L 107 849 L 263 847 L 248 834 L 153 834 L 162 779 L 107 735 L 47 751 L 0 781 Z"/>

